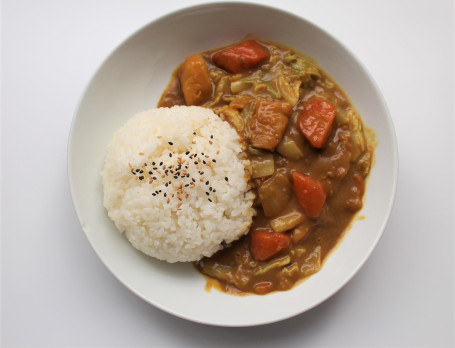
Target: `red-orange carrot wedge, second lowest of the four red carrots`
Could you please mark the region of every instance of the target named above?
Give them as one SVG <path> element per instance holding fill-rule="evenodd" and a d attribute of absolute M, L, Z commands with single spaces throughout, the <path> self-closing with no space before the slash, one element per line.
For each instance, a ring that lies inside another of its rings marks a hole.
<path fill-rule="evenodd" d="M 293 172 L 292 179 L 297 201 L 303 213 L 309 218 L 318 217 L 327 197 L 324 184 L 299 172 Z"/>

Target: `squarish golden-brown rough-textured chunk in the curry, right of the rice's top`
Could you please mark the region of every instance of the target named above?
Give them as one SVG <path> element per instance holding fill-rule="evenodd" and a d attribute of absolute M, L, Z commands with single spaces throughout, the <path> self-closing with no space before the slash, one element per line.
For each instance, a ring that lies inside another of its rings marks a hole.
<path fill-rule="evenodd" d="M 251 144 L 273 151 L 283 137 L 291 112 L 292 105 L 289 103 L 265 100 L 257 103 L 250 121 Z"/>

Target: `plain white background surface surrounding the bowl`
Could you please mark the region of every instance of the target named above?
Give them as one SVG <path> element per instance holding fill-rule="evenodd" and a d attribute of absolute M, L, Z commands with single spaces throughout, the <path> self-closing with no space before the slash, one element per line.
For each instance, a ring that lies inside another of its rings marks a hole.
<path fill-rule="evenodd" d="M 325 303 L 262 327 L 195 324 L 137 298 L 97 258 L 74 212 L 66 172 L 71 120 L 114 47 L 149 21 L 201 2 L 5 0 L 3 346 L 454 346 L 454 2 L 257 2 L 323 27 L 384 94 L 400 170 L 371 258 Z"/>

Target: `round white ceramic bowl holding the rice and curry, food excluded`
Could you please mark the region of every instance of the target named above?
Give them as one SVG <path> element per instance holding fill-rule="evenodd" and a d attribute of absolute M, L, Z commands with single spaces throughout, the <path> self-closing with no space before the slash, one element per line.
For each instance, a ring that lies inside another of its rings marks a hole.
<path fill-rule="evenodd" d="M 100 171 L 114 131 L 134 113 L 156 107 L 172 71 L 186 56 L 237 41 L 247 33 L 282 42 L 315 58 L 350 96 L 365 124 L 375 130 L 379 145 L 360 212 L 365 219 L 354 223 L 322 270 L 287 292 L 238 297 L 205 291 L 204 278 L 191 264 L 167 264 L 136 251 L 107 217 Z M 73 120 L 68 149 L 77 215 L 106 267 L 152 305 L 188 320 L 220 326 L 286 319 L 316 306 L 346 284 L 385 228 L 395 196 L 397 167 L 391 118 L 362 64 L 308 21 L 242 3 L 183 9 L 150 23 L 123 42 L 90 81 Z"/>

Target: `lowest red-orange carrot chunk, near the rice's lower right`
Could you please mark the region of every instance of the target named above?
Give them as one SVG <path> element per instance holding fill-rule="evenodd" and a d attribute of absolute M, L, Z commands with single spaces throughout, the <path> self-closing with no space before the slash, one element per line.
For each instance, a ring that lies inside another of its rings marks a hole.
<path fill-rule="evenodd" d="M 250 251 L 255 260 L 266 261 L 289 248 L 291 243 L 292 239 L 287 234 L 258 228 L 251 232 Z"/>

